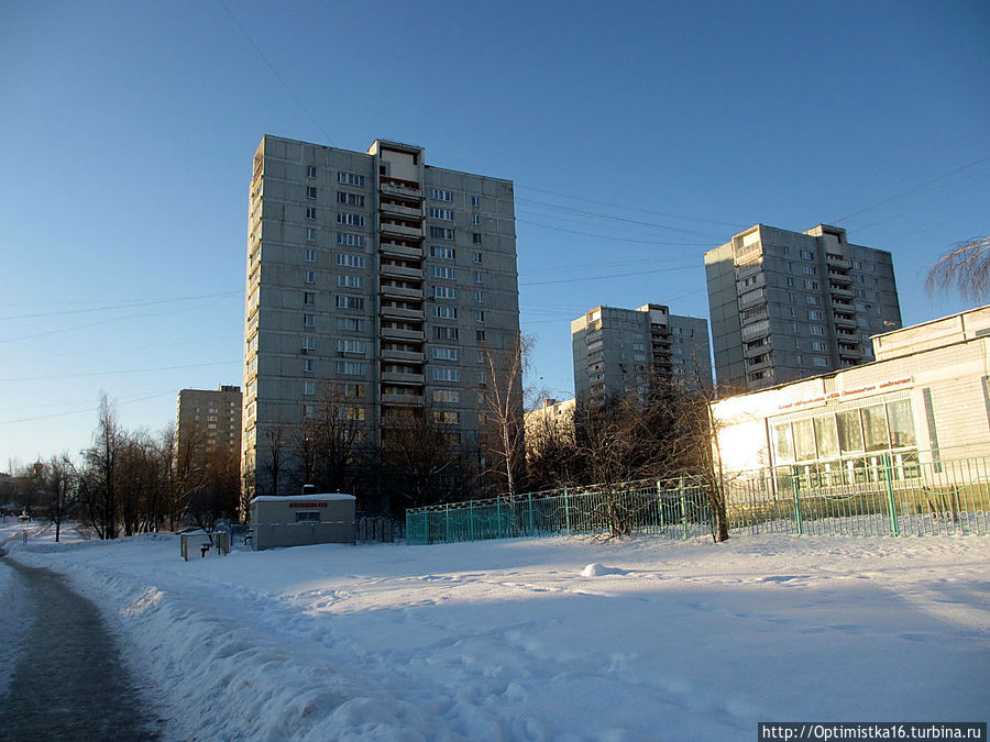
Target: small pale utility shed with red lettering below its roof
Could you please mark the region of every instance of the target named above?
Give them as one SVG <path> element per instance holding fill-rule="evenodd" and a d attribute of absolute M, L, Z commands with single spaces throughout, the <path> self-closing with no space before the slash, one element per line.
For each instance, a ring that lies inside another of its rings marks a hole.
<path fill-rule="evenodd" d="M 251 500 L 252 547 L 354 543 L 353 495 L 262 495 Z"/>

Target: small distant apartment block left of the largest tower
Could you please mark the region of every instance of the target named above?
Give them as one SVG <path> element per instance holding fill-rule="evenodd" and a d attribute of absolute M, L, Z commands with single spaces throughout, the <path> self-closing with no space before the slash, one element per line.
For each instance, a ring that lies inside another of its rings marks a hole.
<path fill-rule="evenodd" d="M 183 389 L 176 402 L 176 440 L 179 461 L 188 446 L 197 452 L 220 451 L 240 458 L 241 387 Z"/>

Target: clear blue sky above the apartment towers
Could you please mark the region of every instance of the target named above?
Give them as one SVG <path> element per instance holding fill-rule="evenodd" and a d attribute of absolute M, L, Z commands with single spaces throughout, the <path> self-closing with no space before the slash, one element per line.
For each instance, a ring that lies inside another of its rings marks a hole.
<path fill-rule="evenodd" d="M 966 308 L 922 273 L 990 233 L 985 0 L 227 3 L 0 0 L 0 470 L 88 445 L 101 390 L 157 431 L 241 383 L 265 133 L 513 179 L 561 396 L 571 319 L 707 317 L 757 222 L 892 251 L 905 323 Z"/>

